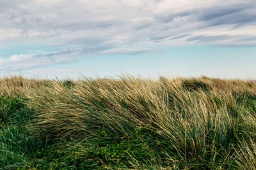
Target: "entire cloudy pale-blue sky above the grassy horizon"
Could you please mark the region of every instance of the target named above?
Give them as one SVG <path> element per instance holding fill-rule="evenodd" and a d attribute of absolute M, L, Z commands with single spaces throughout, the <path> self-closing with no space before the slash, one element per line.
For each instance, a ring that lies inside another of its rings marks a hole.
<path fill-rule="evenodd" d="M 1 0 L 0 76 L 256 80 L 255 0 Z"/>

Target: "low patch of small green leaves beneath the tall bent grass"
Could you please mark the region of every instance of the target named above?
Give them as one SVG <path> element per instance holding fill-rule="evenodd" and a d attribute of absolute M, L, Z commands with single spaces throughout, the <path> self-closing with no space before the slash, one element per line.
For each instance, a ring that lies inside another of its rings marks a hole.
<path fill-rule="evenodd" d="M 161 159 L 163 166 L 170 164 L 166 152 L 172 154 L 169 141 L 157 138 L 150 131 L 139 131 L 132 136 L 112 136 L 99 131 L 99 136 L 71 146 L 48 146 L 36 153 L 42 169 L 97 169 L 132 168 L 133 158 L 147 165 L 152 159 Z"/>

